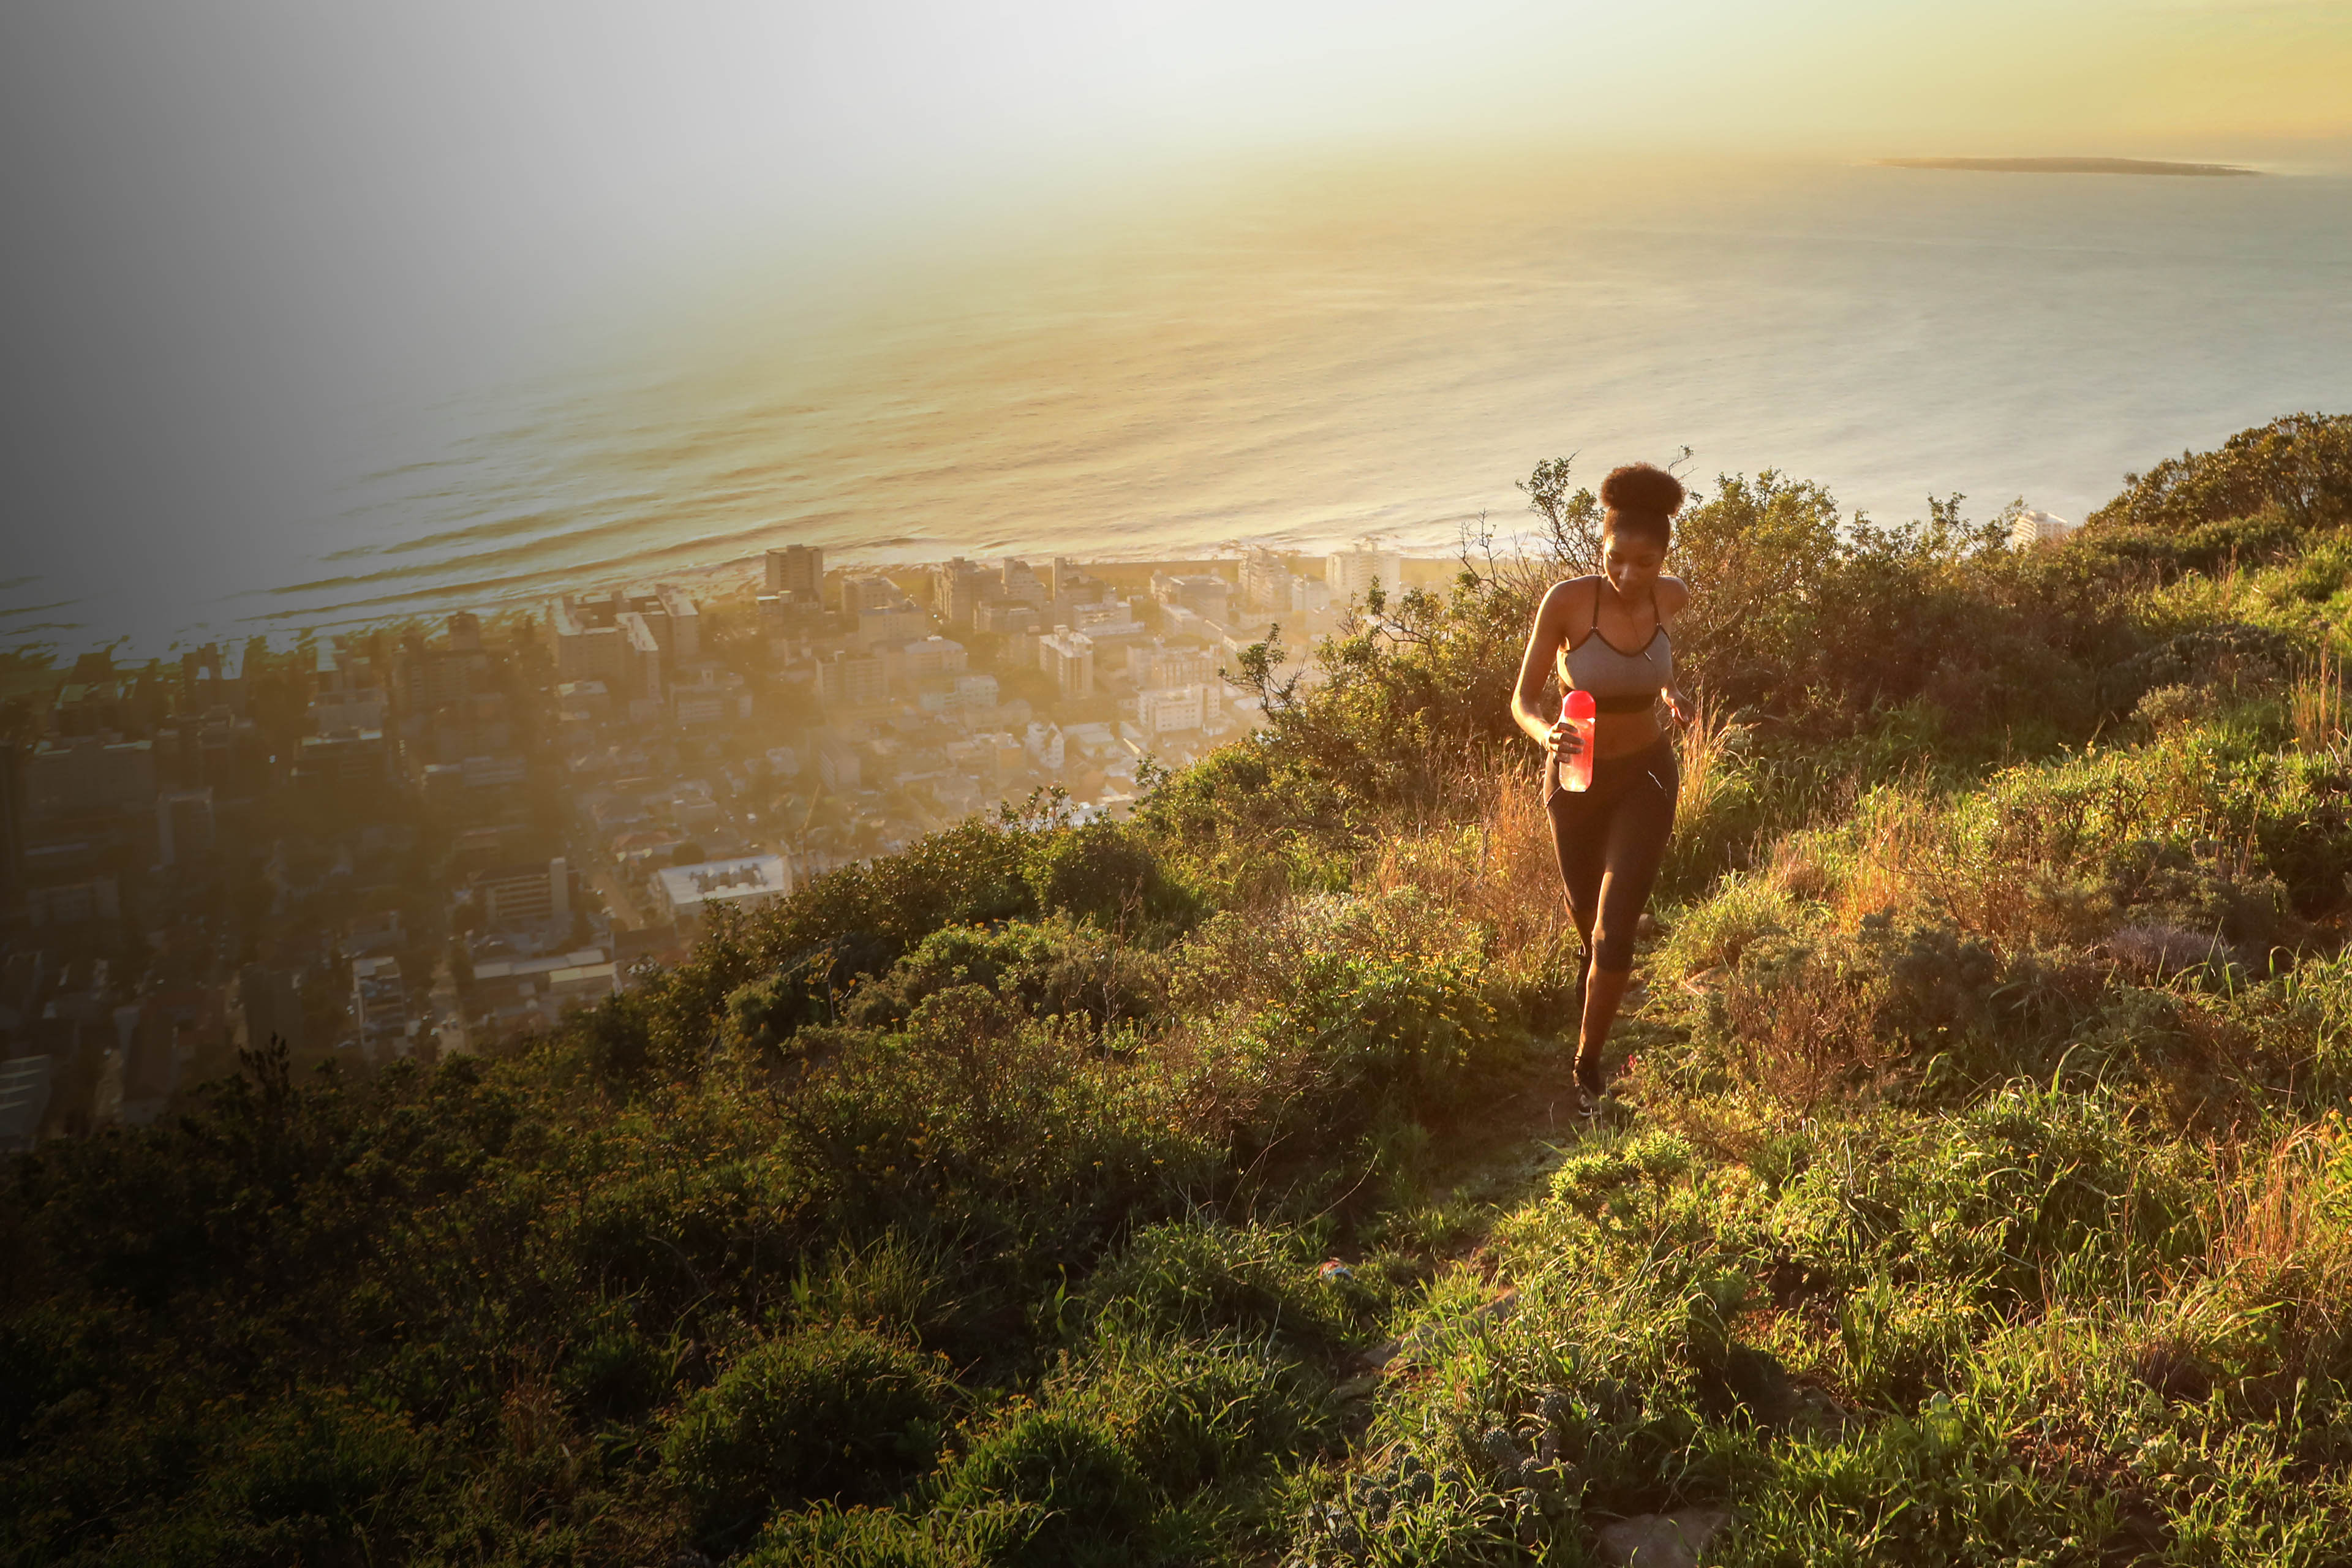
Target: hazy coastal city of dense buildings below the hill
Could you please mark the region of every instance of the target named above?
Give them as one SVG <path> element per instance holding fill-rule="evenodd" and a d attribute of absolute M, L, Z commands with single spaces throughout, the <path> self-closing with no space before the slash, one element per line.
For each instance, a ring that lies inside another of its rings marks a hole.
<path fill-rule="evenodd" d="M 501 1051 L 722 907 L 1004 804 L 1117 816 L 1449 562 L 830 567 L 626 583 L 0 691 L 0 1147 L 296 1065 Z"/>

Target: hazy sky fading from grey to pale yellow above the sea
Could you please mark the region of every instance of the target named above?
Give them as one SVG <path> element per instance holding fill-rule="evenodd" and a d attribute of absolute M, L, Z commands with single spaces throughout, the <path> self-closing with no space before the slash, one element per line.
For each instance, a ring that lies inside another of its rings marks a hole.
<path fill-rule="evenodd" d="M 296 527 L 372 421 L 748 249 L 1367 141 L 2333 162 L 2347 80 L 2291 0 L 9 0 L 0 581 Z"/>

